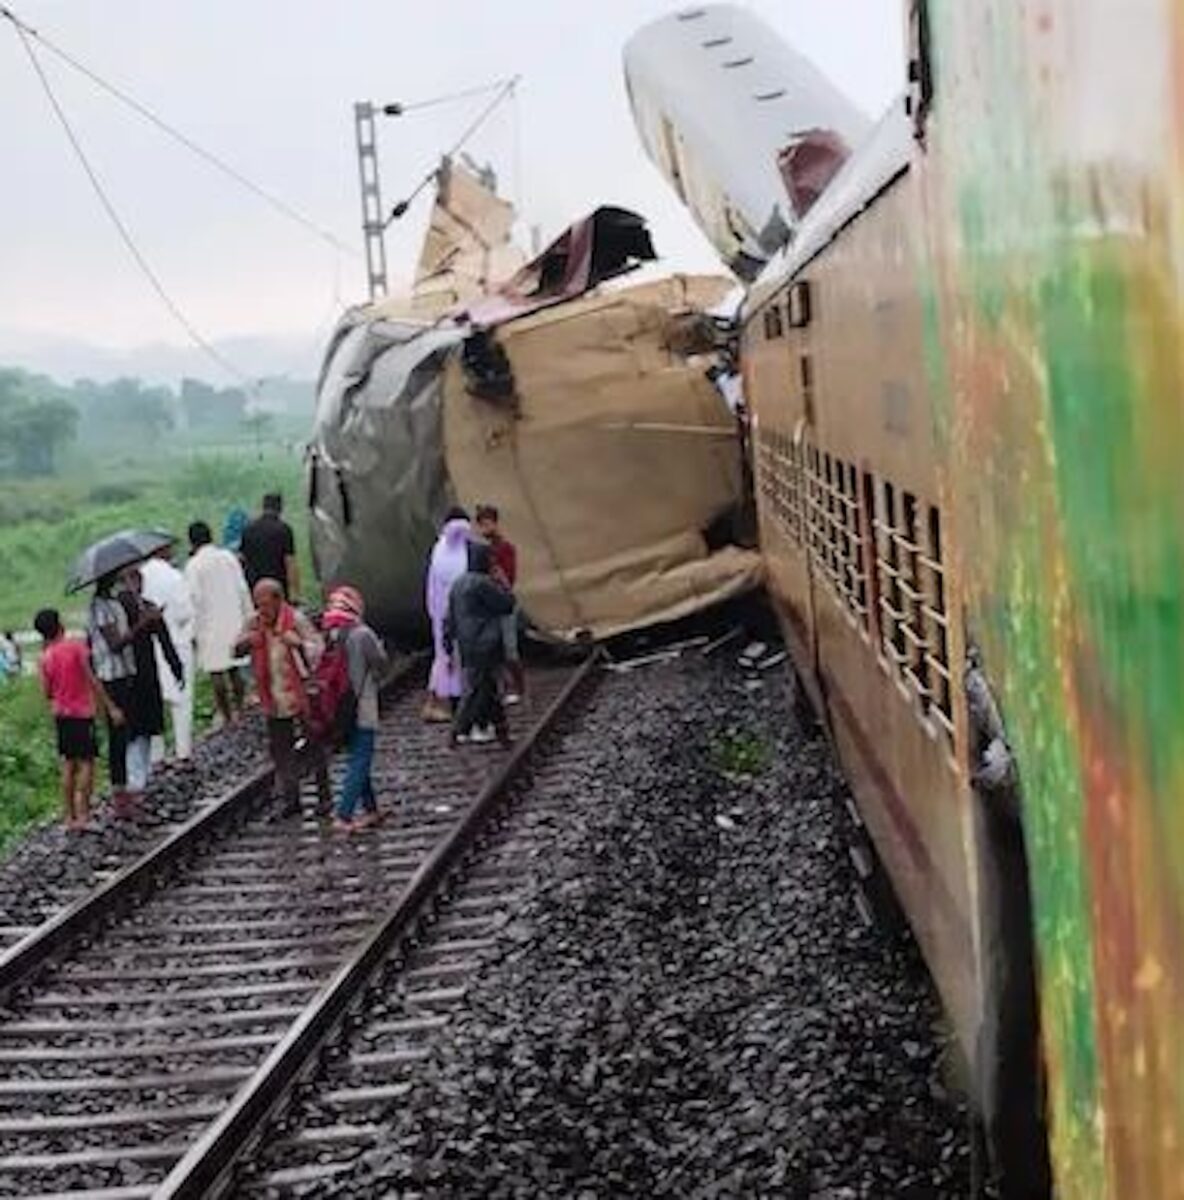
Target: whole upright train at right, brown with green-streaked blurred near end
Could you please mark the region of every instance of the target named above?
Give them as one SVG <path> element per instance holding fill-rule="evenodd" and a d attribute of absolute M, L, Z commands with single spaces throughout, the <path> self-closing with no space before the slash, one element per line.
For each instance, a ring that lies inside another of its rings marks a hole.
<path fill-rule="evenodd" d="M 769 584 L 999 1194 L 1184 1195 L 1184 16 L 902 12 L 745 306 Z"/>

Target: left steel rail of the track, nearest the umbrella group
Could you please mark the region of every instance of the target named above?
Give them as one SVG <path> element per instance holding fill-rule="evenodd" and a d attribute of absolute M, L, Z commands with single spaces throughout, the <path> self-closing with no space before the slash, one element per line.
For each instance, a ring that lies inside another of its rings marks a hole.
<path fill-rule="evenodd" d="M 384 683 L 384 695 L 407 686 L 417 676 L 421 665 L 417 656 L 401 664 Z M 215 832 L 248 816 L 254 805 L 270 793 L 274 779 L 271 766 L 257 768 L 209 808 L 190 817 L 175 833 L 8 947 L 0 954 L 0 1003 L 6 1003 L 20 984 L 47 966 L 56 954 L 100 929 L 127 904 L 146 893 L 169 868 L 191 857 Z"/>

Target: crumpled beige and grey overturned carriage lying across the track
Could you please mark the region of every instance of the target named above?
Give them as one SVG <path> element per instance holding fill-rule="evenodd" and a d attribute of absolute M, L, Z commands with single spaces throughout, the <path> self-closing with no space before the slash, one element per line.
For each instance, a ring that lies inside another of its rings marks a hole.
<path fill-rule="evenodd" d="M 675 619 L 758 582 L 735 536 L 735 426 L 705 377 L 705 313 L 729 283 L 571 298 L 612 274 L 595 242 L 576 227 L 555 280 L 554 263 L 524 269 L 533 296 L 489 294 L 435 325 L 375 306 L 337 330 L 309 451 L 313 552 L 321 581 L 361 587 L 384 630 L 422 630 L 423 566 L 452 503 L 499 508 L 519 600 L 561 638 Z"/>

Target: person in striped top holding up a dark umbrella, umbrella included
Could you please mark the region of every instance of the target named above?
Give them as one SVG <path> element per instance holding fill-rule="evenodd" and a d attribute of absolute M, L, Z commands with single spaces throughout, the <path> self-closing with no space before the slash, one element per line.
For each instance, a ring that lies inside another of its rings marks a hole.
<path fill-rule="evenodd" d="M 90 644 L 95 678 L 110 698 L 107 714 L 107 769 L 112 785 L 112 804 L 116 816 L 127 815 L 127 726 L 116 724 L 112 709 L 124 713 L 132 707 L 136 686 L 134 642 L 144 630 L 160 619 L 155 612 L 145 613 L 133 625 L 114 589 L 120 572 L 144 562 L 162 546 L 173 541 L 168 534 L 124 530 L 103 538 L 78 557 L 66 584 L 67 592 L 80 592 L 95 584 L 86 614 L 86 640 Z"/>

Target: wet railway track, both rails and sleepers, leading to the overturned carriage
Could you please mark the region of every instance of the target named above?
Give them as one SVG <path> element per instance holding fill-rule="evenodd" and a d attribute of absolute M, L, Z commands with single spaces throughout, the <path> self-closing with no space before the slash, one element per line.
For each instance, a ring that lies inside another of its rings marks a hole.
<path fill-rule="evenodd" d="M 311 792 L 300 817 L 274 821 L 259 773 L 0 959 L 0 1194 L 223 1188 L 593 672 L 539 672 L 509 752 L 450 752 L 403 695 L 379 732 L 375 829 L 333 835 Z M 479 890 L 433 926 L 457 935 L 450 954 L 408 964 L 441 1003 L 447 960 L 479 944 L 512 860 L 499 851 L 471 874 Z M 385 1079 L 398 1054 L 375 1054 L 354 1066 Z"/>

